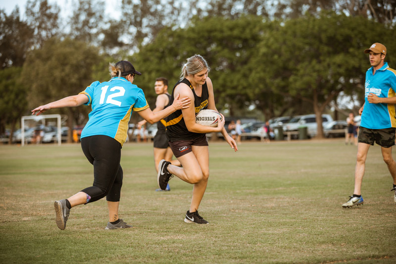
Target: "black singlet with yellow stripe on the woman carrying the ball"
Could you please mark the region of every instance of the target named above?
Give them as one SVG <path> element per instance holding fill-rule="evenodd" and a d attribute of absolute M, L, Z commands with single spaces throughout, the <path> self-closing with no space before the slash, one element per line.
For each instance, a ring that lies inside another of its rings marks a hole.
<path fill-rule="evenodd" d="M 209 92 L 207 90 L 207 84 L 202 85 L 202 94 L 200 97 L 194 91 L 194 87 L 191 85 L 190 81 L 184 78 L 183 80 L 179 81 L 174 87 L 172 91 L 172 97 L 169 101 L 169 104 L 172 104 L 174 101 L 174 92 L 175 87 L 178 86 L 180 83 L 187 84 L 194 94 L 194 106 L 195 106 L 195 113 L 197 114 L 201 109 L 207 108 L 208 99 L 209 99 Z M 177 110 L 166 118 L 166 136 L 171 142 L 181 141 L 181 140 L 191 140 L 197 137 L 201 137 L 202 133 L 194 133 L 190 132 L 187 127 L 186 123 L 184 122 L 182 110 Z"/>

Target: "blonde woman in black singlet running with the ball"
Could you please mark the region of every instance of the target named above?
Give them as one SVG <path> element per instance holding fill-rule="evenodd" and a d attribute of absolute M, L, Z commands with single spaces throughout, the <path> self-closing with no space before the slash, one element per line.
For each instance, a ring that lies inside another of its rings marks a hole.
<path fill-rule="evenodd" d="M 208 77 L 209 66 L 200 55 L 188 58 L 182 68 L 181 80 L 175 85 L 171 103 L 179 96 L 191 99 L 190 107 L 177 110 L 166 118 L 166 136 L 169 146 L 182 167 L 161 160 L 158 166 L 158 185 L 164 190 L 172 174 L 194 184 L 190 209 L 184 221 L 207 224 L 198 214 L 198 207 L 205 193 L 209 178 L 209 148 L 205 133 L 221 132 L 227 143 L 238 151 L 235 140 L 224 129 L 224 116 L 217 127 L 202 126 L 196 123 L 195 115 L 201 109 L 216 110 L 213 85 Z"/>

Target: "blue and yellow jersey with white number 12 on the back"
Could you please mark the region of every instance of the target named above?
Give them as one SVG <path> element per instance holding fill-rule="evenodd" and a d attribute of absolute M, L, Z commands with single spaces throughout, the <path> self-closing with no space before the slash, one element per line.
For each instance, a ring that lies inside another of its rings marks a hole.
<path fill-rule="evenodd" d="M 123 77 L 103 83 L 93 82 L 80 94 L 88 96 L 86 105 L 92 105 L 81 138 L 105 135 L 123 145 L 132 110 L 141 111 L 149 107 L 143 90 Z"/>

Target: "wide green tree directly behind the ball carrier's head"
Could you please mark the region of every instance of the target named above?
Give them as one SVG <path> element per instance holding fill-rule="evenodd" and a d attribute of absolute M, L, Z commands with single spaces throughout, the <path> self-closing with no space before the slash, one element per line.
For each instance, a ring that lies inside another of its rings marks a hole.
<path fill-rule="evenodd" d="M 259 16 L 242 16 L 236 20 L 194 18 L 186 28 L 165 28 L 133 56 L 132 60 L 143 73 L 136 83 L 150 88 L 149 97 L 155 96 L 151 87 L 156 77 L 168 78 L 172 88 L 187 58 L 200 54 L 211 66 L 209 76 L 213 80 L 217 106 L 228 108 L 233 115 L 239 108 L 247 108 L 252 100 L 247 64 L 255 56 L 265 30 Z"/>

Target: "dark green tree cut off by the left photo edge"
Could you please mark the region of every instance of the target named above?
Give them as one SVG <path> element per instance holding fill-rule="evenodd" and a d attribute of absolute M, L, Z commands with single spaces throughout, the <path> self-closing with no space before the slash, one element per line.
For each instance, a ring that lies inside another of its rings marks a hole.
<path fill-rule="evenodd" d="M 28 86 L 21 83 L 22 67 L 8 67 L 0 70 L 0 133 L 10 124 L 9 144 L 15 124 L 26 110 Z"/>

